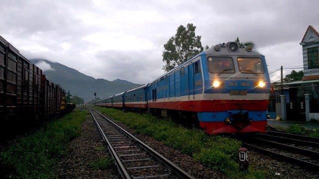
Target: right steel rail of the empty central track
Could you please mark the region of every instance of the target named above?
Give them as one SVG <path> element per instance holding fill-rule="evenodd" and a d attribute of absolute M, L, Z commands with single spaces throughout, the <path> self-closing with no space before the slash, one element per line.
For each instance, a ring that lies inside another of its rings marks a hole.
<path fill-rule="evenodd" d="M 133 139 L 134 141 L 136 141 L 143 149 L 145 149 L 146 151 L 148 151 L 150 154 L 152 154 L 158 161 L 160 161 L 162 164 L 164 164 L 169 170 L 173 171 L 177 177 L 181 178 L 181 179 L 195 179 L 194 177 L 192 177 L 191 175 L 189 175 L 186 171 L 184 171 L 183 169 L 179 168 L 178 166 L 176 166 L 174 163 L 172 163 L 171 161 L 169 161 L 167 158 L 165 158 L 164 156 L 162 156 L 160 153 L 158 153 L 157 151 L 155 151 L 154 149 L 152 149 L 150 146 L 146 145 L 144 142 L 140 141 L 138 138 L 136 138 L 135 136 L 133 136 L 131 133 L 129 133 L 128 131 L 126 131 L 125 129 L 123 129 L 122 127 L 120 127 L 119 125 L 117 125 L 116 123 L 114 123 L 112 120 L 110 120 L 109 118 L 107 118 L 106 116 L 104 116 L 103 114 L 101 114 L 99 111 L 93 109 L 95 112 L 97 112 L 98 114 L 100 114 L 103 118 L 105 118 L 108 122 L 110 122 L 113 126 L 115 126 L 116 128 L 118 128 L 119 130 L 121 130 L 125 135 L 127 135 L 129 138 Z M 92 113 L 92 112 L 91 112 Z"/>

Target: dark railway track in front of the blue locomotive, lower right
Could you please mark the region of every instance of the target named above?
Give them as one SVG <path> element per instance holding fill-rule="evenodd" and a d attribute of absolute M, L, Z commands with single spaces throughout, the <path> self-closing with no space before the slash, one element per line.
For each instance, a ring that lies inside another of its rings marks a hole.
<path fill-rule="evenodd" d="M 267 131 L 244 142 L 246 147 L 272 155 L 275 159 L 319 170 L 319 138 Z"/>

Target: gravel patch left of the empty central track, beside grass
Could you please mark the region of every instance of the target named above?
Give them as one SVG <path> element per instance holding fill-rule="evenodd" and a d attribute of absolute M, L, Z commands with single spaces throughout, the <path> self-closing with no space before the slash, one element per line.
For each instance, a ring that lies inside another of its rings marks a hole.
<path fill-rule="evenodd" d="M 111 157 L 91 115 L 83 122 L 80 136 L 69 144 L 68 150 L 57 167 L 58 178 L 121 179 L 115 165 L 106 170 L 91 167 L 92 162 L 105 156 Z"/>

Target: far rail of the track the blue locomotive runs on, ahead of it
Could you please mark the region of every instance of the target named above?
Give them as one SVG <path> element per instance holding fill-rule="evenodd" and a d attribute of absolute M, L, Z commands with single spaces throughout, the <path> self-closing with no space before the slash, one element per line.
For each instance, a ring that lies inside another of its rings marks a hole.
<path fill-rule="evenodd" d="M 307 149 L 303 149 L 303 148 L 299 148 L 299 147 L 295 147 L 295 146 L 290 146 L 287 144 L 282 144 L 282 143 L 278 143 L 278 142 L 274 142 L 274 141 L 270 141 L 270 140 L 265 140 L 265 139 L 261 139 L 261 138 L 252 138 L 253 140 L 257 140 L 259 142 L 263 142 L 263 143 L 267 143 L 269 145 L 272 146 L 276 146 L 276 147 L 280 147 L 281 149 L 285 149 L 291 152 L 298 152 L 299 154 L 303 154 L 306 156 L 309 156 L 311 158 L 314 159 L 319 159 L 319 152 L 316 151 L 312 151 L 312 150 L 307 150 Z"/>

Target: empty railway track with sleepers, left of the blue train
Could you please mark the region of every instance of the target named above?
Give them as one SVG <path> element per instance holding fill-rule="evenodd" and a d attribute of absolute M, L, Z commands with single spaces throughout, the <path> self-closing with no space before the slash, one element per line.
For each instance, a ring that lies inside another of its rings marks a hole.
<path fill-rule="evenodd" d="M 97 110 L 90 112 L 123 179 L 194 179 Z"/>

